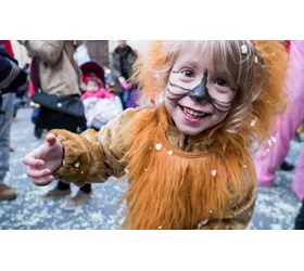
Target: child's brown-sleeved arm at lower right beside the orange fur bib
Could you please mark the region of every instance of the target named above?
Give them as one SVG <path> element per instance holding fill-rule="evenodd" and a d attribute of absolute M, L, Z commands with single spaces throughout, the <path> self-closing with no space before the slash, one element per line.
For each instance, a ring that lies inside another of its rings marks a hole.
<path fill-rule="evenodd" d="M 248 180 L 245 180 L 248 181 Z M 236 203 L 225 219 L 211 219 L 200 227 L 200 230 L 244 230 L 253 215 L 256 198 L 256 181 L 252 181 L 248 193 Z"/>

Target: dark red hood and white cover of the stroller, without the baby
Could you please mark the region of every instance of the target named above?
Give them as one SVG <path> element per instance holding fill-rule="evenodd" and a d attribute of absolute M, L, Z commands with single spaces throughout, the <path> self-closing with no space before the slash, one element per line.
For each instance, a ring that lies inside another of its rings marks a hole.
<path fill-rule="evenodd" d="M 80 66 L 83 72 L 83 81 L 85 82 L 89 77 L 97 76 L 104 85 L 105 73 L 104 69 L 94 61 L 89 61 Z M 85 106 L 85 116 L 87 119 L 87 127 L 99 130 L 107 121 L 116 117 L 123 112 L 123 104 L 118 96 L 114 99 L 98 99 L 89 98 L 83 101 Z"/>

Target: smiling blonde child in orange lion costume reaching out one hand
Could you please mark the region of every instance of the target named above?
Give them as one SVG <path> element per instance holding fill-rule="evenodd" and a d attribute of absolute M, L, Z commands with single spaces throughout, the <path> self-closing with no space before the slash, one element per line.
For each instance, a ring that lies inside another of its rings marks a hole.
<path fill-rule="evenodd" d="M 152 105 L 99 132 L 52 130 L 23 163 L 37 185 L 122 178 L 124 229 L 245 229 L 253 214 L 254 136 L 282 105 L 287 55 L 277 41 L 156 41 L 136 83 Z"/>

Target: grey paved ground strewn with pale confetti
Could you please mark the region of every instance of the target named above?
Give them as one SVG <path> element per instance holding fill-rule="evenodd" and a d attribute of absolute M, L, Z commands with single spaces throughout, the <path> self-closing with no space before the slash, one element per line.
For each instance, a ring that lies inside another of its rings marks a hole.
<path fill-rule="evenodd" d="M 5 183 L 18 193 L 13 202 L 0 202 L 0 229 L 72 230 L 118 229 L 124 217 L 117 202 L 126 190 L 126 181 L 114 178 L 103 184 L 93 184 L 92 201 L 75 211 L 64 211 L 65 199 L 42 199 L 39 195 L 50 189 L 38 188 L 25 175 L 22 157 L 41 143 L 33 134 L 29 108 L 20 109 L 12 126 L 12 144 L 16 152 L 11 155 L 11 169 Z M 303 143 L 292 142 L 288 160 L 296 163 Z M 292 229 L 300 201 L 290 190 L 294 172 L 278 172 L 276 186 L 259 188 L 256 208 L 249 229 Z M 73 188 L 74 194 L 77 189 Z"/>

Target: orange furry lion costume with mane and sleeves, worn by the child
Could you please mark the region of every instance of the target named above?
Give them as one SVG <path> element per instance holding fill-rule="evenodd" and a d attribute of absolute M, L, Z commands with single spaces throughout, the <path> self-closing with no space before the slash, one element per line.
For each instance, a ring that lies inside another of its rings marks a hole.
<path fill-rule="evenodd" d="M 255 136 L 261 141 L 269 137 L 271 118 L 281 109 L 287 67 L 278 42 L 254 44 L 265 60 L 269 85 L 253 102 L 238 133 L 227 131 L 226 119 L 187 137 L 178 131 L 163 103 L 129 109 L 98 133 L 50 131 L 65 152 L 55 178 L 83 185 L 110 176 L 122 178 L 128 168 L 125 229 L 244 229 L 256 196 L 250 146 Z M 143 95 L 150 99 L 162 90 L 151 72 L 167 61 L 160 53 L 161 46 L 154 43 L 151 66 L 142 66 L 139 74 Z"/>

